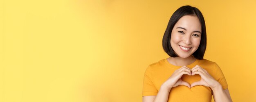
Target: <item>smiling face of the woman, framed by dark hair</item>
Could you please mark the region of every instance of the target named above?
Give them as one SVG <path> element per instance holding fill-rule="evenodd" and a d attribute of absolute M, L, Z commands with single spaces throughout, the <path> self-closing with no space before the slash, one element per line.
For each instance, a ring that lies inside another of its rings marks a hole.
<path fill-rule="evenodd" d="M 171 47 L 181 58 L 191 56 L 200 45 L 201 23 L 197 16 L 185 15 L 178 20 L 171 33 Z"/>

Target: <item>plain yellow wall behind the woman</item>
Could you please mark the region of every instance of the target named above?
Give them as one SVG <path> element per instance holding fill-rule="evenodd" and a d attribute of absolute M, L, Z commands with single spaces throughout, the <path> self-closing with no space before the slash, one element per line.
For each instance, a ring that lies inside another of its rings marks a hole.
<path fill-rule="evenodd" d="M 204 58 L 233 101 L 256 102 L 256 0 L 0 0 L 0 102 L 141 102 L 184 5 L 202 11 Z"/>

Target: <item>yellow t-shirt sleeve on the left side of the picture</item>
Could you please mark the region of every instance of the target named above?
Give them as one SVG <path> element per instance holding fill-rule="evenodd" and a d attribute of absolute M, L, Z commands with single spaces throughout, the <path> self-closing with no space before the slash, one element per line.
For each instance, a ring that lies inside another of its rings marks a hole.
<path fill-rule="evenodd" d="M 146 69 L 144 73 L 144 80 L 143 80 L 143 88 L 142 88 L 142 96 L 146 95 L 157 95 L 158 91 L 152 81 L 152 69 L 150 65 Z"/>

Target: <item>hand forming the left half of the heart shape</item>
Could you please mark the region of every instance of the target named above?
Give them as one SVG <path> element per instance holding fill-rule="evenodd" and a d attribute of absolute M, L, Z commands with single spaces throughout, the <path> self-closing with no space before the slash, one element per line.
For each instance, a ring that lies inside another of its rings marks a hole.
<path fill-rule="evenodd" d="M 173 74 L 164 82 L 163 85 L 168 89 L 171 89 L 172 87 L 177 87 L 178 85 L 185 85 L 191 88 L 188 82 L 184 82 L 181 80 L 181 77 L 184 74 L 191 76 L 191 69 L 189 69 L 186 66 L 183 66 L 180 69 L 175 70 Z"/>

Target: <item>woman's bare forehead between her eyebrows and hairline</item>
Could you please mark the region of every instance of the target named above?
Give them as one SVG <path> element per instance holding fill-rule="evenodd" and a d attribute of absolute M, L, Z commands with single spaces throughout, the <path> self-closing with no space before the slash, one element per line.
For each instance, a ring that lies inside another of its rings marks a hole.
<path fill-rule="evenodd" d="M 201 23 L 197 16 L 195 15 L 184 15 L 178 20 L 173 29 L 177 27 L 186 28 L 187 30 L 200 30 L 201 31 Z"/>

